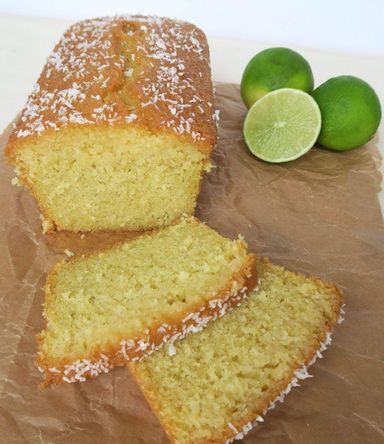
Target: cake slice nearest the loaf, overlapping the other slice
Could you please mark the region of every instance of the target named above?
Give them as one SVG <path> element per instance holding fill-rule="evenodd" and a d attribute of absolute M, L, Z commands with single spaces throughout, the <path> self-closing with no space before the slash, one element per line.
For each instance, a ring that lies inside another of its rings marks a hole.
<path fill-rule="evenodd" d="M 187 218 L 57 264 L 45 286 L 37 365 L 45 385 L 85 381 L 195 332 L 257 284 L 255 256 Z"/>

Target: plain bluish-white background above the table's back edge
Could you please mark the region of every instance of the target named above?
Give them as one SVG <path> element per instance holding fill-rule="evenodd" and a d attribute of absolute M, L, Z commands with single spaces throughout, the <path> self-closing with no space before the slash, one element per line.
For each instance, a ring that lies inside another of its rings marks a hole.
<path fill-rule="evenodd" d="M 191 21 L 210 36 L 384 54 L 384 0 L 0 0 L 1 13 L 69 20 L 157 14 Z"/>

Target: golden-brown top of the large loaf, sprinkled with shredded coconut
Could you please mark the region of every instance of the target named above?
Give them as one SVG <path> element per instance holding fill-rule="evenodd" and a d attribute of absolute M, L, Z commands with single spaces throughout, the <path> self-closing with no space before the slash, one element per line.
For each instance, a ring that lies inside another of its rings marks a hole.
<path fill-rule="evenodd" d="M 172 132 L 209 152 L 217 117 L 200 29 L 159 17 L 97 18 L 64 33 L 10 142 L 69 126 L 133 124 Z"/>

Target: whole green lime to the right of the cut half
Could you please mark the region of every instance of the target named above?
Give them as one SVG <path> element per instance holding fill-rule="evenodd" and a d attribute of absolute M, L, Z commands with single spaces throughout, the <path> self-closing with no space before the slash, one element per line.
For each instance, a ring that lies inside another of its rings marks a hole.
<path fill-rule="evenodd" d="M 322 127 L 318 142 L 337 151 L 350 150 L 375 134 L 381 120 L 379 99 L 368 83 L 353 76 L 333 77 L 313 91 Z"/>

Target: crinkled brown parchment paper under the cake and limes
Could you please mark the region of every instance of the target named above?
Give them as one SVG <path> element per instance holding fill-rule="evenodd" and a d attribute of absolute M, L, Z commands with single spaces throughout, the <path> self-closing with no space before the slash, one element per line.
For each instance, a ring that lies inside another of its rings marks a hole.
<path fill-rule="evenodd" d="M 197 215 L 286 267 L 334 281 L 345 292 L 336 328 L 313 379 L 268 413 L 246 443 L 384 442 L 384 225 L 377 141 L 349 153 L 314 148 L 270 165 L 242 140 L 245 108 L 234 85 L 218 85 L 220 141 Z M 6 134 L 1 139 L 4 146 Z M 44 236 L 28 191 L 0 165 L 0 442 L 160 444 L 167 439 L 124 368 L 80 384 L 40 390 L 34 337 L 47 271 L 65 257 L 125 235 Z"/>

